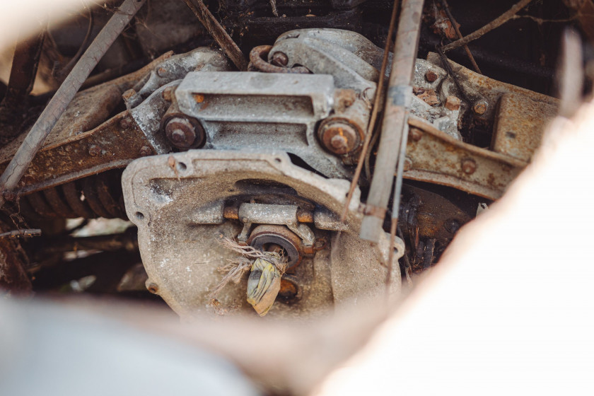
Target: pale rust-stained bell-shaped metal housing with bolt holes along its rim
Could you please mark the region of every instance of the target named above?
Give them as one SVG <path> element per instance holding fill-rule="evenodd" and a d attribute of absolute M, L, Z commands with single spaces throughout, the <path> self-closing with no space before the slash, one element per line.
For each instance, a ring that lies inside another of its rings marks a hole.
<path fill-rule="evenodd" d="M 233 257 L 233 252 L 216 243 L 216 234 L 236 238 L 245 228 L 242 215 L 247 223 L 250 217 L 276 223 L 251 230 L 248 240 L 254 245 L 284 244 L 291 252 L 291 246 L 298 250 L 302 245 L 305 250 L 315 238 L 313 257 L 303 252 L 301 263 L 293 266 L 292 286 L 287 286 L 296 287 L 300 298 L 290 300 L 290 305 L 273 305 L 268 315 L 314 315 L 350 298 L 385 290 L 382 263 L 388 260 L 388 236 L 383 235 L 380 244 L 373 246 L 359 240 L 359 193 L 351 202 L 346 224 L 337 227 L 342 229 L 339 237 L 310 228 L 300 217 L 313 220 L 313 226 L 332 227 L 349 182 L 327 179 L 293 165 L 286 153 L 192 150 L 140 158 L 124 171 L 122 187 L 127 214 L 139 228 L 147 284 L 182 317 L 209 310 L 206 296 L 222 276 L 216 269 Z M 299 216 L 297 206 L 313 214 L 301 212 Z M 239 220 L 233 220 L 233 210 L 226 207 L 242 208 L 237 212 Z M 280 227 L 282 221 L 291 223 L 281 227 L 286 231 L 293 228 L 291 233 L 300 234 L 298 238 L 272 228 Z M 272 235 L 284 236 L 273 240 Z M 322 237 L 328 241 L 325 248 L 316 244 Z M 402 240 L 397 240 L 394 248 L 396 256 L 402 256 Z M 400 269 L 395 271 L 393 292 L 400 290 Z M 245 279 L 224 291 L 219 298 L 223 305 L 252 309 L 245 302 Z"/>

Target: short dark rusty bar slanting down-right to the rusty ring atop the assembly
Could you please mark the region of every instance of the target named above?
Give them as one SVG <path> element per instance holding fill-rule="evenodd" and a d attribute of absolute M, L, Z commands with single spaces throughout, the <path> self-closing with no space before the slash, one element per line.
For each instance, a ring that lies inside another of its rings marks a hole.
<path fill-rule="evenodd" d="M 245 60 L 243 53 L 235 44 L 230 35 L 226 32 L 221 23 L 214 18 L 209 8 L 204 5 L 202 0 L 184 0 L 185 4 L 192 10 L 204 28 L 210 33 L 214 41 L 223 49 L 225 54 L 231 59 L 231 62 L 241 70 L 248 70 L 248 61 Z"/>

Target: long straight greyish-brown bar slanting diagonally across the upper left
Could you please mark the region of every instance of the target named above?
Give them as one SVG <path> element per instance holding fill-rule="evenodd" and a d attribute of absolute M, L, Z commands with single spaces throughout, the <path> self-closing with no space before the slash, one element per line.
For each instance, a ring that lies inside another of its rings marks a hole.
<path fill-rule="evenodd" d="M 45 138 L 52 131 L 52 128 L 62 116 L 66 107 L 70 104 L 74 95 L 81 88 L 91 71 L 95 69 L 99 60 L 109 50 L 115 39 L 122 33 L 122 30 L 134 18 L 136 12 L 143 6 L 146 0 L 124 0 L 120 8 L 99 32 L 95 40 L 78 60 L 74 69 L 64 79 L 64 83 L 58 88 L 56 94 L 47 104 L 37 122 L 25 137 L 23 144 L 18 148 L 16 154 L 8 163 L 6 170 L 0 177 L 0 207 L 4 206 L 4 193 L 11 192 L 16 188 L 21 177 L 25 174 L 35 153 L 41 148 Z"/>

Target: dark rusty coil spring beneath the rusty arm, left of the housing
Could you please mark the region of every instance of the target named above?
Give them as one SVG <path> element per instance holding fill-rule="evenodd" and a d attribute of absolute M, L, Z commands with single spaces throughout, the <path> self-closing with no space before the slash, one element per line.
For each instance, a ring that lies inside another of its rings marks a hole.
<path fill-rule="evenodd" d="M 122 170 L 109 170 L 21 197 L 28 219 L 125 219 Z"/>

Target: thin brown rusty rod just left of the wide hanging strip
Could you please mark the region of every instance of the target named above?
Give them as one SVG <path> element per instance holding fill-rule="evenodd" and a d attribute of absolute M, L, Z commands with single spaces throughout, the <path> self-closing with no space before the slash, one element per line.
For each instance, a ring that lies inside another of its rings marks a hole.
<path fill-rule="evenodd" d="M 369 143 L 371 141 L 371 136 L 373 135 L 373 129 L 375 129 L 375 121 L 378 118 L 378 112 L 380 110 L 380 101 L 381 98 L 383 98 L 385 69 L 388 68 L 390 47 L 392 47 L 392 35 L 394 35 L 394 27 L 396 25 L 396 13 L 398 11 L 398 4 L 399 0 L 394 0 L 394 4 L 392 5 L 392 16 L 390 17 L 390 27 L 388 28 L 388 37 L 386 37 L 385 40 L 382 66 L 380 67 L 380 78 L 378 78 L 378 88 L 375 89 L 373 110 L 371 110 L 371 117 L 369 118 L 369 124 L 367 125 L 367 134 L 365 135 L 365 140 L 363 141 L 363 148 L 361 148 L 361 153 L 359 153 L 359 162 L 357 163 L 353 180 L 351 180 L 351 187 L 349 188 L 349 194 L 347 194 L 347 202 L 344 203 L 344 208 L 342 209 L 342 214 L 340 215 L 340 221 L 344 221 L 344 219 L 347 219 L 349 205 L 351 204 L 351 199 L 353 199 L 355 188 L 359 184 L 359 177 L 361 177 L 361 169 L 363 169 L 363 163 L 365 163 L 366 154 L 369 151 Z"/>

